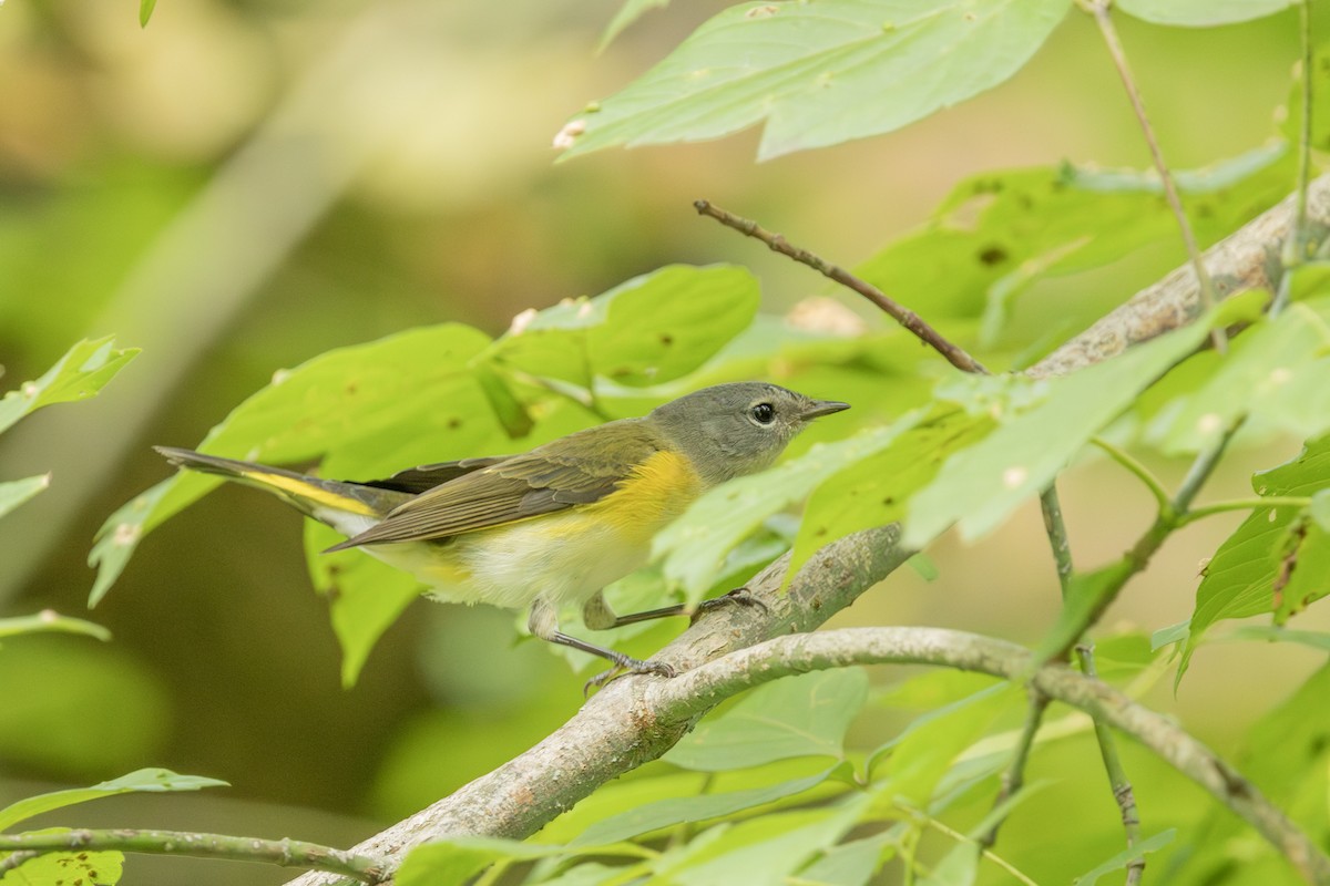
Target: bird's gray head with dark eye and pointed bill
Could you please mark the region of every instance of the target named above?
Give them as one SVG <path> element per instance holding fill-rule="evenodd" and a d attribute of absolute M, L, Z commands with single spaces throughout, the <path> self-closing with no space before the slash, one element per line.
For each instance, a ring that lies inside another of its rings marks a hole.
<path fill-rule="evenodd" d="M 769 468 L 810 421 L 849 408 L 763 381 L 739 381 L 672 400 L 650 418 L 713 486 Z"/>

